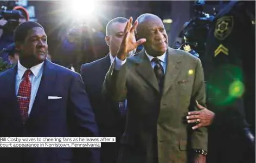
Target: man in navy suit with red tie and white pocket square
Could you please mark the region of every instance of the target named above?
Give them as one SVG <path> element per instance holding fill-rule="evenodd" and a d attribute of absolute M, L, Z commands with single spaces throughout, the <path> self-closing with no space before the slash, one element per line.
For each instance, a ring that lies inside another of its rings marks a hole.
<path fill-rule="evenodd" d="M 1 137 L 98 136 L 81 76 L 46 59 L 47 36 L 39 23 L 14 34 L 20 60 L 0 75 Z M 95 148 L 1 148 L 5 163 L 98 163 Z"/>

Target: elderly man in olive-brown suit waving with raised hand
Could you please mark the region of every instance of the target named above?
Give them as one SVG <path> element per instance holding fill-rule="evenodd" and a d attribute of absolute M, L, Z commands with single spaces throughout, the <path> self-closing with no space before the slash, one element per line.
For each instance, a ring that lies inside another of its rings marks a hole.
<path fill-rule="evenodd" d="M 137 31 L 140 38 L 133 41 Z M 193 131 L 185 120 L 205 102 L 201 62 L 182 50 L 168 47 L 161 19 L 152 14 L 132 18 L 123 42 L 106 75 L 103 92 L 113 100 L 127 99 L 126 128 L 118 162 L 184 163 L 206 160 L 207 129 Z M 126 58 L 142 44 L 144 49 Z"/>

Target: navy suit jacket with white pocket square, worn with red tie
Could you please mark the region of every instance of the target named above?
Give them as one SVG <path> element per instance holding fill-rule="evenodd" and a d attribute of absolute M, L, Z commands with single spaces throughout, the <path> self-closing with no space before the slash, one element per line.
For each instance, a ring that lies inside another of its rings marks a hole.
<path fill-rule="evenodd" d="M 27 125 L 22 126 L 15 95 L 17 66 L 0 74 L 1 137 L 98 136 L 94 113 L 81 76 L 48 60 Z M 48 96 L 62 99 L 48 100 Z M 71 163 L 99 161 L 92 148 L 0 148 L 5 163 Z M 72 161 L 73 160 L 73 161 Z"/>

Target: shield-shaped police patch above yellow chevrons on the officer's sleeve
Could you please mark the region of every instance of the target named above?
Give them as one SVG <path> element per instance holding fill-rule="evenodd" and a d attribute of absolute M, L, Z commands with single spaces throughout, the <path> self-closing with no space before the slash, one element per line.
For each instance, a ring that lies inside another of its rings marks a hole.
<path fill-rule="evenodd" d="M 231 33 L 233 25 L 233 16 L 223 16 L 217 19 L 214 36 L 219 40 L 224 40 Z"/>

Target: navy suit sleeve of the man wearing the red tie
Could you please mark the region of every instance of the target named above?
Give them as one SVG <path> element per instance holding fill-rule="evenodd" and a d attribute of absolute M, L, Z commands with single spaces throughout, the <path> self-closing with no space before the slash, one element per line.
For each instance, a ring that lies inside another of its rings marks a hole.
<path fill-rule="evenodd" d="M 75 73 L 69 90 L 69 110 L 72 112 L 72 134 L 76 137 L 98 136 L 94 113 L 84 89 L 81 76 Z M 99 163 L 99 148 L 75 148 L 74 162 Z"/>

